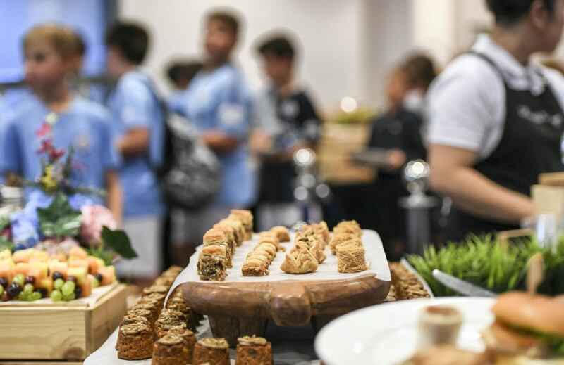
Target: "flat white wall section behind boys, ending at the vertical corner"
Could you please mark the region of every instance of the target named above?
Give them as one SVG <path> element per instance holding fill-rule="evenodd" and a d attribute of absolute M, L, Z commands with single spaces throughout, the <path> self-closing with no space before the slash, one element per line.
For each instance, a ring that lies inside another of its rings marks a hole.
<path fill-rule="evenodd" d="M 164 67 L 174 56 L 198 56 L 202 20 L 216 6 L 234 8 L 245 19 L 237 60 L 252 89 L 262 86 L 255 41 L 264 32 L 289 29 L 301 41 L 300 74 L 324 106 L 345 95 L 366 94 L 359 63 L 362 0 L 121 0 L 118 16 L 145 23 L 152 33 L 147 65 L 165 88 Z M 305 46 L 304 46 L 305 45 Z"/>

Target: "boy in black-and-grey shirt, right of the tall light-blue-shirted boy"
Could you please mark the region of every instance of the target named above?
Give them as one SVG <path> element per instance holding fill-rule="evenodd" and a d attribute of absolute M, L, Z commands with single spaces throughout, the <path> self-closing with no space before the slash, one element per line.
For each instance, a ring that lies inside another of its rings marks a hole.
<path fill-rule="evenodd" d="M 252 148 L 259 156 L 257 226 L 291 226 L 302 220 L 294 197 L 296 178 L 293 155 L 314 148 L 321 134 L 321 119 L 295 75 L 295 46 L 285 35 L 264 39 L 257 51 L 269 86 L 258 96 Z M 319 216 L 320 214 L 315 214 Z M 319 220 L 321 217 L 310 217 Z"/>

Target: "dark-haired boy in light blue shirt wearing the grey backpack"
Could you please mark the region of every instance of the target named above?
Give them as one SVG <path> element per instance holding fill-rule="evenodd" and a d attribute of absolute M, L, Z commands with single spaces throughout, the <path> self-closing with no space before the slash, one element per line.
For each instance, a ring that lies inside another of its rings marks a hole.
<path fill-rule="evenodd" d="M 106 33 L 106 69 L 116 81 L 108 107 L 116 120 L 118 153 L 123 158 L 123 229 L 139 257 L 123 262 L 121 275 L 152 278 L 161 271 L 161 219 L 164 205 L 156 171 L 163 158 L 164 115 L 152 80 L 140 68 L 149 37 L 144 28 L 117 23 Z"/>

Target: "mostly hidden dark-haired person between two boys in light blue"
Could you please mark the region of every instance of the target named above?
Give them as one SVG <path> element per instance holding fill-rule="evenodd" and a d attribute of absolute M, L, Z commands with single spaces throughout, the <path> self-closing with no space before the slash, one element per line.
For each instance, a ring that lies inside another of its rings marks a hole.
<path fill-rule="evenodd" d="M 166 76 L 173 90 L 168 96 L 168 109 L 173 113 L 184 113 L 184 93 L 192 79 L 202 70 L 202 63 L 196 60 L 183 60 L 171 63 L 166 68 Z"/>

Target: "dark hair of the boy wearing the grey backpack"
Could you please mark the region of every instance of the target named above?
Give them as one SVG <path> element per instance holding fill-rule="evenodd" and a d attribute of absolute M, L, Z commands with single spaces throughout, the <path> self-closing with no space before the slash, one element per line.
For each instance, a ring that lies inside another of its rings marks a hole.
<path fill-rule="evenodd" d="M 106 45 L 117 46 L 126 60 L 139 65 L 147 53 L 149 34 L 140 25 L 116 23 L 106 32 Z"/>

